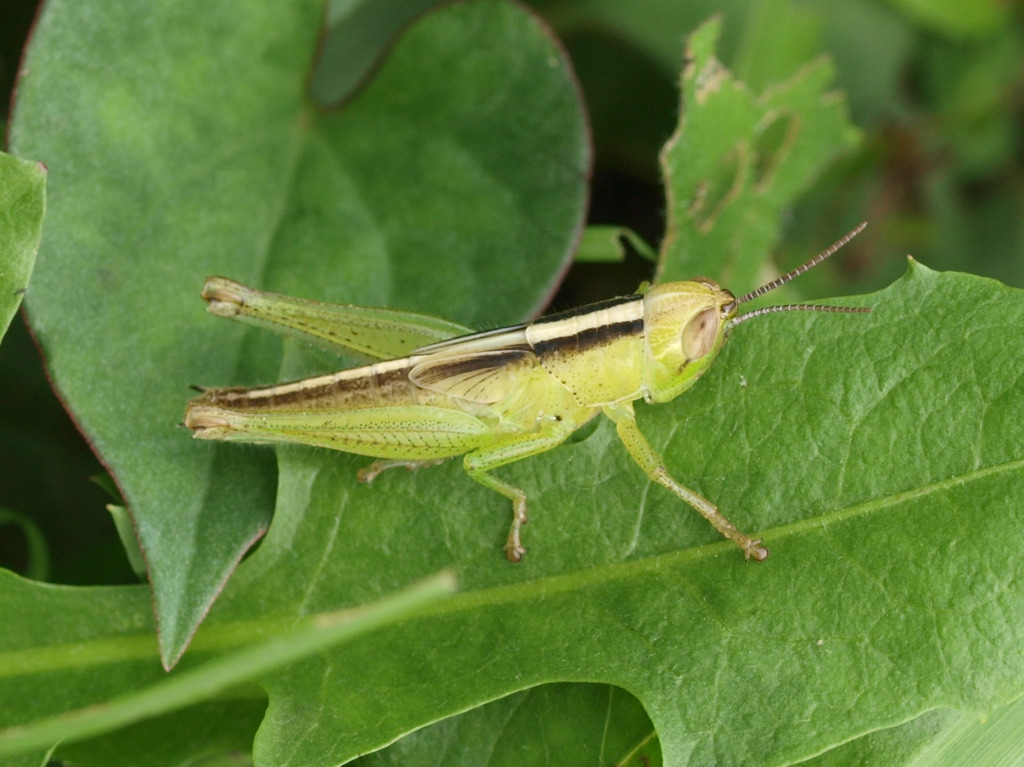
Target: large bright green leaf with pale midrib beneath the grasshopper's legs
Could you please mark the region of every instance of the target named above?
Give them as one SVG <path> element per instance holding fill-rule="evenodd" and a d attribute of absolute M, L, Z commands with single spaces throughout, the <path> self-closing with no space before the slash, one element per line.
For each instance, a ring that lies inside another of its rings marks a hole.
<path fill-rule="evenodd" d="M 912 264 L 856 303 L 874 313 L 745 325 L 687 396 L 641 411 L 673 471 L 764 536 L 766 562 L 744 563 L 644 481 L 607 425 L 504 470 L 532 501 L 515 566 L 500 550 L 506 504 L 458 466 L 368 487 L 359 461 L 295 448 L 281 451 L 266 541 L 187 658 L 444 562 L 463 595 L 262 679 L 258 763 L 341 762 L 551 680 L 635 694 L 667 764 L 792 763 L 936 708 L 1016 698 L 1024 359 L 1005 350 L 1021 342 L 1024 295 Z M 3 605 L 24 616 L 23 642 L 50 614 L 26 611 L 30 597 Z M 144 649 L 147 630 L 119 632 Z M 152 643 L 135 659 L 91 659 L 94 646 L 83 636 L 73 669 L 53 649 L 23 651 L 16 672 L 0 655 L 0 699 L 59 679 L 83 690 L 62 687 L 72 701 L 101 699 L 137 684 L 145 657 L 156 669 Z M 5 721 L 32 713 L 13 706 Z"/>

